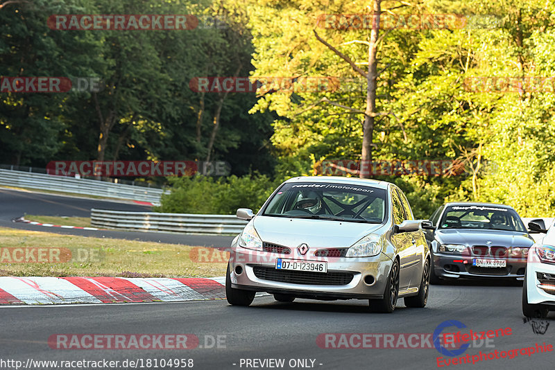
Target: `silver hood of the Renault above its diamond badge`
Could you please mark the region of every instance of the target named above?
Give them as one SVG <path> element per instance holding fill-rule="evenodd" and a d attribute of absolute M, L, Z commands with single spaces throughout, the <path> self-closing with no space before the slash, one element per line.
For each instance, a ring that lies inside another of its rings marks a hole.
<path fill-rule="evenodd" d="M 306 243 L 310 248 L 350 247 L 383 224 L 345 221 L 304 220 L 256 216 L 255 229 L 264 242 L 298 247 Z"/>

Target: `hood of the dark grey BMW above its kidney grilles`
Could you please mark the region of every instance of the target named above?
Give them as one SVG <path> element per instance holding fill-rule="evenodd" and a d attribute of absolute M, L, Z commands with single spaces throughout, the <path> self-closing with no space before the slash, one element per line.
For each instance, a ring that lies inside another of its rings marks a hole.
<path fill-rule="evenodd" d="M 436 240 L 441 244 L 499 245 L 502 247 L 531 247 L 533 239 L 518 231 L 440 229 Z M 491 243 L 488 243 L 491 242 Z"/>

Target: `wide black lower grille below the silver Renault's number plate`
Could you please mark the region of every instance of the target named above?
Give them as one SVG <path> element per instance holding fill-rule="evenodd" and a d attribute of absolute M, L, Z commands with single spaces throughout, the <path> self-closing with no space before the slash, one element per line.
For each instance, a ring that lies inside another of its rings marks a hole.
<path fill-rule="evenodd" d="M 261 266 L 253 267 L 253 272 L 258 279 L 305 285 L 347 285 L 354 276 L 352 272 L 291 271 Z"/>

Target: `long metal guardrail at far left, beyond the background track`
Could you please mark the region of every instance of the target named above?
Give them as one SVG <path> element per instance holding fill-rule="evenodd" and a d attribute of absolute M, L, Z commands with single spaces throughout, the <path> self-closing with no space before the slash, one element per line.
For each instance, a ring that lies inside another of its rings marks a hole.
<path fill-rule="evenodd" d="M 101 182 L 92 179 L 76 179 L 75 177 L 4 170 L 1 168 L 0 185 L 137 200 L 139 202 L 151 202 L 155 205 L 160 205 L 160 196 L 164 193 L 164 190 L 157 188 L 144 188 L 142 186 L 114 184 L 112 182 Z M 169 193 L 169 191 L 165 191 L 165 193 Z"/>

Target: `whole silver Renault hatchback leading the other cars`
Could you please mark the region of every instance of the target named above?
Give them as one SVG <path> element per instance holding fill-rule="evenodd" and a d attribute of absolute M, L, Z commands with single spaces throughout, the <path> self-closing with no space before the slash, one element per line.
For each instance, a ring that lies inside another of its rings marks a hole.
<path fill-rule="evenodd" d="M 225 291 L 248 306 L 255 292 L 277 301 L 369 299 L 393 312 L 398 297 L 424 307 L 430 255 L 407 198 L 388 182 L 295 177 L 281 184 L 232 242 Z"/>

